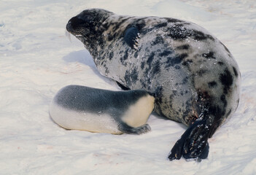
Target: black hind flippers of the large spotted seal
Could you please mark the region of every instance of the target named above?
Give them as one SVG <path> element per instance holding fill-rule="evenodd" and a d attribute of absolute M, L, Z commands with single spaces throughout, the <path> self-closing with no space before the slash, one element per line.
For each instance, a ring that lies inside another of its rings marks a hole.
<path fill-rule="evenodd" d="M 206 120 L 198 119 L 182 137 L 174 144 L 168 155 L 169 160 L 180 159 L 206 159 L 209 153 L 209 127 Z"/>

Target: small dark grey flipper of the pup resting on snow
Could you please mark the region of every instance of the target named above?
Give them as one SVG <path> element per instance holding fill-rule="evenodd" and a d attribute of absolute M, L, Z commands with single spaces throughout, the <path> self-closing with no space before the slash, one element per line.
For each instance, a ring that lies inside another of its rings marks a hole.
<path fill-rule="evenodd" d="M 132 128 L 131 126 L 129 126 L 125 123 L 120 123 L 120 125 L 118 125 L 118 129 L 119 129 L 119 131 L 121 131 L 123 133 L 130 133 L 130 134 L 136 134 L 136 135 L 139 135 L 141 133 L 147 133 L 147 132 L 151 131 L 149 124 L 141 125 L 137 128 Z"/>

